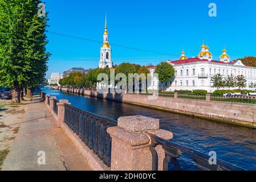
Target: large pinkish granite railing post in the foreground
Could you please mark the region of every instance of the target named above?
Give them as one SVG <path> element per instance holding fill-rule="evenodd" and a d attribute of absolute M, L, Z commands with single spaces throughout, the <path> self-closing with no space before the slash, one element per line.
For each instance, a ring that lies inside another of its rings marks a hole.
<path fill-rule="evenodd" d="M 159 129 L 159 119 L 144 116 L 120 117 L 117 126 L 109 127 L 107 132 L 112 138 L 112 171 L 152 170 L 151 138 L 147 133 L 167 140 L 173 137 L 169 131 Z M 156 151 L 161 170 L 164 150 L 157 146 Z"/>

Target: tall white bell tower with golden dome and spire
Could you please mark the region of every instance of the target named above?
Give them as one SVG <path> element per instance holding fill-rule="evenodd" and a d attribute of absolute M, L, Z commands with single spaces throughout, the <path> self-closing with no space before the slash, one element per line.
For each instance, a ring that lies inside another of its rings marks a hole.
<path fill-rule="evenodd" d="M 108 42 L 107 18 L 105 19 L 105 31 L 103 34 L 103 44 L 100 48 L 99 68 L 112 68 L 111 46 Z"/>

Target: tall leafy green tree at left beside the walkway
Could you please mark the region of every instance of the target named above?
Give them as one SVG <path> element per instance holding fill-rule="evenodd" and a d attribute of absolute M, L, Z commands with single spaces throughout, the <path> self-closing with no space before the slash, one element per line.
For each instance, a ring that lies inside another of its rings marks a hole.
<path fill-rule="evenodd" d="M 0 85 L 12 89 L 13 102 L 21 102 L 23 88 L 43 82 L 47 71 L 48 19 L 38 16 L 39 3 L 0 0 Z"/>

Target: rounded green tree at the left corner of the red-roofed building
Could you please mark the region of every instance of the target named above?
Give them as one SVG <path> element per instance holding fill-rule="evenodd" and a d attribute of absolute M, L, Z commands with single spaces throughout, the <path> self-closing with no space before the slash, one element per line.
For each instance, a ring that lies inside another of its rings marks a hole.
<path fill-rule="evenodd" d="M 155 73 L 159 74 L 161 90 L 164 92 L 164 82 L 169 81 L 174 76 L 175 69 L 171 64 L 164 61 L 156 66 Z"/>

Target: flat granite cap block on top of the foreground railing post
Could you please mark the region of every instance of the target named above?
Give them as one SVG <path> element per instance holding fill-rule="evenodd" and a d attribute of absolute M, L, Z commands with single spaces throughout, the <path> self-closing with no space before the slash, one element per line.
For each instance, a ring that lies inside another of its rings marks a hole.
<path fill-rule="evenodd" d="M 159 130 L 159 119 L 142 115 L 120 117 L 117 126 L 132 133 Z"/>

